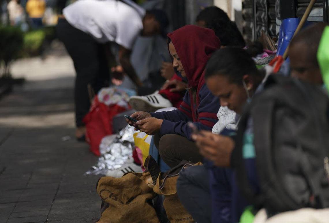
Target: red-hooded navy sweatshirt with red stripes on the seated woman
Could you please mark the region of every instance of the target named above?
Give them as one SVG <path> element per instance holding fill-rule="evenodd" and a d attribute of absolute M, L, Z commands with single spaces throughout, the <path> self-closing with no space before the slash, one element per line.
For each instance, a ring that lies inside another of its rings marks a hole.
<path fill-rule="evenodd" d="M 182 62 L 190 88 L 196 89 L 196 100 L 188 90 L 178 110 L 151 113 L 164 119 L 160 134 L 178 134 L 190 139 L 192 121 L 199 129 L 211 130 L 218 121 L 220 104 L 205 84 L 205 66 L 211 55 L 220 48 L 220 41 L 211 29 L 187 25 L 168 34 Z"/>

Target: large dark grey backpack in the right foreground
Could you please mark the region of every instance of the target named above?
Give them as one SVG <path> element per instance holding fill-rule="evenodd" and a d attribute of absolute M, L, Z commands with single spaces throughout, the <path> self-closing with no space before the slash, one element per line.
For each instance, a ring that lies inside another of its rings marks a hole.
<path fill-rule="evenodd" d="M 329 98 L 323 89 L 271 75 L 242 115 L 233 162 L 241 192 L 268 213 L 329 207 Z M 242 140 L 252 118 L 260 193 L 247 180 Z"/>

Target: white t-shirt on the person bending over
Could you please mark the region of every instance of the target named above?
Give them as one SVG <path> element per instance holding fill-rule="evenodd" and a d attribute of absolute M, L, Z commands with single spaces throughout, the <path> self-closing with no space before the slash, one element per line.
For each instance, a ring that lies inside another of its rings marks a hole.
<path fill-rule="evenodd" d="M 66 20 L 98 42 L 114 41 L 132 49 L 143 29 L 145 10 L 132 1 L 78 0 L 63 9 Z M 128 5 L 129 4 L 129 5 Z"/>

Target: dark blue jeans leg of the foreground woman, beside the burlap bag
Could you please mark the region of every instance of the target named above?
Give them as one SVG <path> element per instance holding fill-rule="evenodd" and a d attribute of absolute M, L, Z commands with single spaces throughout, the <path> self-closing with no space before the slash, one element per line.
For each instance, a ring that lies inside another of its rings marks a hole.
<path fill-rule="evenodd" d="M 196 222 L 211 222 L 211 196 L 205 166 L 183 169 L 177 180 L 177 194 Z"/>

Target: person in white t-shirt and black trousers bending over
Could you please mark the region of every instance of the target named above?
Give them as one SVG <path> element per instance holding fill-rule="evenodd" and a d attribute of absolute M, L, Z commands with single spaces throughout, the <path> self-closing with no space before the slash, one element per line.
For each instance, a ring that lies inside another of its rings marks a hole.
<path fill-rule="evenodd" d="M 167 24 L 163 11 L 145 12 L 130 0 L 79 0 L 63 9 L 56 32 L 72 58 L 77 74 L 74 102 L 78 139 L 83 139 L 86 131 L 82 120 L 90 108 L 88 85 L 96 93 L 102 87 L 108 87 L 111 65 L 117 76 L 126 73 L 137 86 L 141 86 L 142 82 L 130 62 L 134 42 L 140 34 L 165 33 Z M 115 66 L 110 42 L 119 45 L 121 66 Z"/>

